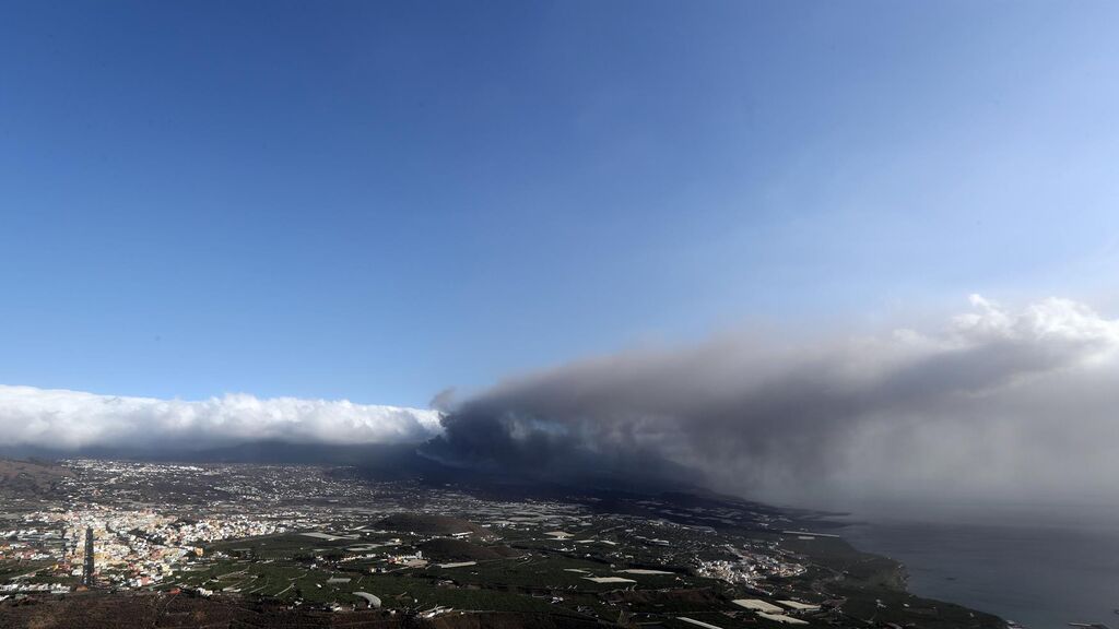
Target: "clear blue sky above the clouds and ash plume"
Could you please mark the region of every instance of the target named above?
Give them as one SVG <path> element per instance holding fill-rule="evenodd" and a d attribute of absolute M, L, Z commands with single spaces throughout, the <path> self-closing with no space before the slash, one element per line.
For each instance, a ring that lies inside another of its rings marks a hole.
<path fill-rule="evenodd" d="M 1108 309 L 1117 18 L 8 2 L 0 383 L 424 405 L 752 321 Z"/>

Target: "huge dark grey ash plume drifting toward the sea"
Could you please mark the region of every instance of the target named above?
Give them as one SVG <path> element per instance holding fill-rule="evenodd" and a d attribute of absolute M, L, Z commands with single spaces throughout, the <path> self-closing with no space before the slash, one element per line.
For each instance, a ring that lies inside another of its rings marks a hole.
<path fill-rule="evenodd" d="M 693 470 L 770 500 L 1119 498 L 1119 320 L 978 295 L 933 331 L 740 334 L 508 379 L 425 450 L 564 473 Z"/>

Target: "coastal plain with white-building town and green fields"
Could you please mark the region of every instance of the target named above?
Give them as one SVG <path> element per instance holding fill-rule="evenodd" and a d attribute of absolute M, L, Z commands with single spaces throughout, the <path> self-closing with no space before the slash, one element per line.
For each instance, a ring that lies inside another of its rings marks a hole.
<path fill-rule="evenodd" d="M 949 627 L 963 613 L 901 582 L 882 589 L 899 566 L 850 550 L 816 515 L 725 497 L 495 496 L 319 466 L 51 469 L 49 490 L 10 497 L 0 516 L 0 605 L 29 619 L 106 595 L 369 626 L 511 613 L 527 626 Z"/>

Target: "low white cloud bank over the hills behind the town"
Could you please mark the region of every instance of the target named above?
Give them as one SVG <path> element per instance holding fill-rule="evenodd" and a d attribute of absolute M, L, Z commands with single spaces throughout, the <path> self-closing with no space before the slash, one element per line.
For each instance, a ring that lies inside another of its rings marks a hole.
<path fill-rule="evenodd" d="M 0 385 L 0 445 L 49 450 L 175 448 L 258 441 L 416 443 L 442 431 L 439 413 L 348 401 L 235 394 L 199 402 Z"/>

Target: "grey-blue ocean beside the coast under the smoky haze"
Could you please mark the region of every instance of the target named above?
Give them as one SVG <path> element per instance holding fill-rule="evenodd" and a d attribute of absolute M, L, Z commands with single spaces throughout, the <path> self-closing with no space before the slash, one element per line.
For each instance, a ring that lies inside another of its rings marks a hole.
<path fill-rule="evenodd" d="M 910 591 L 1014 620 L 1119 627 L 1119 518 L 1068 510 L 986 513 L 971 522 L 853 517 L 855 547 L 905 564 Z M 976 522 L 979 520 L 979 522 Z"/>

